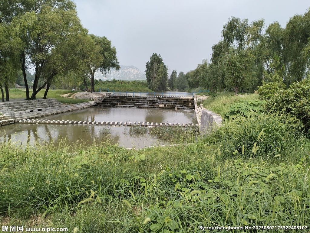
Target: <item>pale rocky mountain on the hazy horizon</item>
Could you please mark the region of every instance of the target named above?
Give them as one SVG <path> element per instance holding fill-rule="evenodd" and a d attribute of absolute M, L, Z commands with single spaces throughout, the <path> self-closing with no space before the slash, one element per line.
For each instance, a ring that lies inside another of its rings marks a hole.
<path fill-rule="evenodd" d="M 111 73 L 107 74 L 107 77 L 104 77 L 100 71 L 96 71 L 95 79 L 101 80 L 145 80 L 145 74 L 143 74 L 135 66 L 122 66 L 118 71 L 112 70 Z"/>

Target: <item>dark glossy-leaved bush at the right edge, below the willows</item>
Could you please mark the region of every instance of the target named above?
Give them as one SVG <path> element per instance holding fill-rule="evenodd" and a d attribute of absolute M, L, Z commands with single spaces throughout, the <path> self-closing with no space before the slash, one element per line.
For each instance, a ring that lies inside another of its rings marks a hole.
<path fill-rule="evenodd" d="M 310 80 L 305 79 L 290 85 L 290 88 L 280 91 L 266 110 L 277 114 L 282 121 L 291 121 L 294 127 L 308 132 L 310 127 Z"/>

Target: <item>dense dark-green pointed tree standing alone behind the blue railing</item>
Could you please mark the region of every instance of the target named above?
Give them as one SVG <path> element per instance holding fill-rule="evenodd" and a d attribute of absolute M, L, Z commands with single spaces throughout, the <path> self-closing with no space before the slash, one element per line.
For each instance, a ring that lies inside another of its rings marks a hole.
<path fill-rule="evenodd" d="M 163 63 L 160 54 L 152 54 L 150 61 L 145 64 L 145 74 L 149 89 L 153 91 L 166 89 L 168 68 Z"/>

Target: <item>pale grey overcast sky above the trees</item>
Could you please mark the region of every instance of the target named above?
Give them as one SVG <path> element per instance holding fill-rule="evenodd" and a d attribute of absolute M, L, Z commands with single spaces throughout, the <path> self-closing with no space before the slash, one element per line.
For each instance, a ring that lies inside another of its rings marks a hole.
<path fill-rule="evenodd" d="M 303 15 L 309 0 L 73 0 L 89 33 L 107 37 L 117 49 L 120 65 L 142 73 L 153 53 L 172 70 L 194 70 L 211 58 L 231 16 L 278 21 L 282 27 L 295 14 Z"/>

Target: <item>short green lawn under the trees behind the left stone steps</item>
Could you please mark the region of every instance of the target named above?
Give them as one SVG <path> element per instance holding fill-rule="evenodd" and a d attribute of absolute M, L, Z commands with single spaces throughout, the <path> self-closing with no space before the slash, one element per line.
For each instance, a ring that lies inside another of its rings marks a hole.
<path fill-rule="evenodd" d="M 58 101 L 60 101 L 63 104 L 78 104 L 78 103 L 85 103 L 89 100 L 84 99 L 73 99 L 73 98 L 67 98 L 67 97 L 61 97 L 61 95 L 68 94 L 68 93 L 76 93 L 77 91 L 71 91 L 71 90 L 49 90 L 47 93 L 47 98 L 55 98 Z M 36 98 L 43 98 L 45 93 L 45 89 L 42 89 L 38 92 L 36 95 Z M 10 89 L 9 90 L 10 99 L 17 99 L 17 98 L 26 98 L 26 91 L 23 89 Z M 29 95 L 31 96 L 32 89 L 29 90 Z"/>

